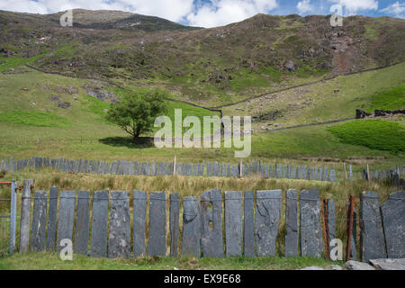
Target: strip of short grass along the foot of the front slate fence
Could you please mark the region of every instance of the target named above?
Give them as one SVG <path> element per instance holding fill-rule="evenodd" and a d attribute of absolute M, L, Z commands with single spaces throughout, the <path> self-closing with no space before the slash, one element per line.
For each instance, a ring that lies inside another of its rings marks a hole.
<path fill-rule="evenodd" d="M 58 254 L 29 253 L 0 258 L 0 270 L 293 270 L 307 266 L 328 267 L 333 263 L 310 257 L 137 257 L 131 259 L 92 258 L 74 255 L 62 261 Z M 341 263 L 338 263 L 338 265 Z"/>

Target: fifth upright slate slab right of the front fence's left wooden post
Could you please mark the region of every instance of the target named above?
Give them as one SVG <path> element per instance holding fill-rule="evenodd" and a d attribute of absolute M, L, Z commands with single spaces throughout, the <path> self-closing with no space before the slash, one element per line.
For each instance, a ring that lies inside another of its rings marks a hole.
<path fill-rule="evenodd" d="M 96 191 L 93 195 L 91 257 L 107 257 L 109 191 Z"/>

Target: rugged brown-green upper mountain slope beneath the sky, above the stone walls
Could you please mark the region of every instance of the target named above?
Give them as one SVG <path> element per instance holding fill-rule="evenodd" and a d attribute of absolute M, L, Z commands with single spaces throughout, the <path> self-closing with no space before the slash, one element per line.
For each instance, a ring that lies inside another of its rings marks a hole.
<path fill-rule="evenodd" d="M 353 16 L 331 27 L 329 16 L 257 14 L 193 29 L 156 17 L 83 10 L 73 28 L 62 28 L 58 15 L 1 12 L 0 56 L 43 55 L 31 64 L 122 85 L 164 86 L 209 106 L 405 58 L 405 21 L 389 17 Z"/>

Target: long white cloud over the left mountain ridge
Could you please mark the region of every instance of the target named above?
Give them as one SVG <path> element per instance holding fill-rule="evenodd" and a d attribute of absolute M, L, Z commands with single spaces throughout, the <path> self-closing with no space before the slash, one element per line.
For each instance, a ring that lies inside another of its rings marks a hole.
<path fill-rule="evenodd" d="M 57 13 L 63 6 L 89 10 L 120 10 L 181 21 L 193 11 L 193 0 L 1 0 L 0 10 L 39 14 Z"/>

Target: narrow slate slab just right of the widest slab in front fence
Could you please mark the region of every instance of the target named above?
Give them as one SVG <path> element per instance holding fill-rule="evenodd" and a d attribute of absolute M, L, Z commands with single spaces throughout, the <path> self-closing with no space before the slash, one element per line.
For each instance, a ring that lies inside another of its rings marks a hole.
<path fill-rule="evenodd" d="M 285 200 L 285 257 L 296 257 L 298 255 L 298 201 L 297 191 L 288 189 Z"/>

